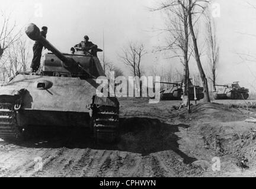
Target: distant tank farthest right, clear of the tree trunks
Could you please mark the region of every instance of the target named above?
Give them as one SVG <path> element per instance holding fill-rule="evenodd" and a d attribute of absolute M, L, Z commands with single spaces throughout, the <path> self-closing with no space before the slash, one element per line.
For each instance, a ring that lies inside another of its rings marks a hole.
<path fill-rule="evenodd" d="M 219 89 L 213 93 L 214 99 L 215 100 L 222 100 L 222 99 L 247 100 L 249 97 L 249 89 L 240 87 L 238 83 L 239 82 L 233 82 L 232 84 L 224 84 L 224 85 L 217 84 L 216 86 L 219 86 Z"/>

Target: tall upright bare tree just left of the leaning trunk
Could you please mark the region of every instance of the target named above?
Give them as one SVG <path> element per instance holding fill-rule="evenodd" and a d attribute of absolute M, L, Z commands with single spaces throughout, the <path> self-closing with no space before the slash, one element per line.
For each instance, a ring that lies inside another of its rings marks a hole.
<path fill-rule="evenodd" d="M 181 6 L 184 4 L 184 6 Z M 167 31 L 168 31 L 168 46 L 165 50 L 172 50 L 175 54 L 173 57 L 179 57 L 184 66 L 184 94 L 189 96 L 188 83 L 190 78 L 190 71 L 188 62 L 190 60 L 191 51 L 189 43 L 189 29 L 188 29 L 188 6 L 186 0 L 183 1 L 165 1 L 156 10 L 163 10 L 167 14 Z M 190 111 L 190 102 L 187 98 L 188 111 Z"/>

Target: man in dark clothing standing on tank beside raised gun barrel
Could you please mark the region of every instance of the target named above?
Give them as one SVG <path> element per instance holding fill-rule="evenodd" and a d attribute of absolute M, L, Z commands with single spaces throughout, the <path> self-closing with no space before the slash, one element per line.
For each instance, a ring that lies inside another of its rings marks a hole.
<path fill-rule="evenodd" d="M 45 26 L 41 28 L 40 33 L 44 38 L 46 38 L 47 30 L 48 28 Z M 40 41 L 36 41 L 36 43 L 34 43 L 34 46 L 33 46 L 34 56 L 30 66 L 32 72 L 36 72 L 40 67 L 42 51 L 43 51 L 43 44 L 41 44 Z"/>

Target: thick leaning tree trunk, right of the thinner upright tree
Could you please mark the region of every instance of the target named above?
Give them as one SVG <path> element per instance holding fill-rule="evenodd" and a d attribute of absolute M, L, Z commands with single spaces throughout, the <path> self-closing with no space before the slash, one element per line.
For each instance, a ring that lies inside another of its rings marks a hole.
<path fill-rule="evenodd" d="M 190 1 L 190 5 L 191 5 L 191 1 Z M 204 88 L 204 99 L 203 100 L 204 100 L 204 102 L 208 103 L 208 102 L 210 102 L 208 83 L 207 83 L 206 75 L 204 74 L 203 67 L 201 66 L 201 60 L 200 60 L 199 50 L 197 47 L 196 35 L 194 33 L 194 28 L 193 28 L 191 8 L 188 10 L 188 24 L 190 26 L 191 37 L 192 37 L 193 44 L 194 44 L 194 53 L 196 56 L 197 67 L 199 68 L 201 80 L 203 82 L 203 88 Z"/>

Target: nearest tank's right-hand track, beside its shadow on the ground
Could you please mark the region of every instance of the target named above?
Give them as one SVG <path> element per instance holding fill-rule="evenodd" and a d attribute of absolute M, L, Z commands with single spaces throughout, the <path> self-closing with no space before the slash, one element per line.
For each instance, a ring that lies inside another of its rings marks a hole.
<path fill-rule="evenodd" d="M 93 116 L 94 139 L 97 143 L 115 142 L 119 126 L 119 109 L 117 107 L 95 107 Z"/>

